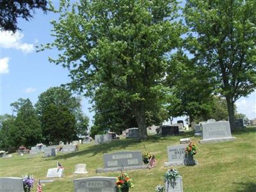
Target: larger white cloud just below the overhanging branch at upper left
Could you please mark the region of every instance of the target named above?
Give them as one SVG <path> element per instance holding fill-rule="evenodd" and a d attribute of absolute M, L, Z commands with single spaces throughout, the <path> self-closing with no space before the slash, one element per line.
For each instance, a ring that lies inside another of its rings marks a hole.
<path fill-rule="evenodd" d="M 24 37 L 23 33 L 17 31 L 13 34 L 10 31 L 0 31 L 0 44 L 1 47 L 6 49 L 18 49 L 24 53 L 29 53 L 34 51 L 33 44 L 22 43 L 22 38 Z"/>

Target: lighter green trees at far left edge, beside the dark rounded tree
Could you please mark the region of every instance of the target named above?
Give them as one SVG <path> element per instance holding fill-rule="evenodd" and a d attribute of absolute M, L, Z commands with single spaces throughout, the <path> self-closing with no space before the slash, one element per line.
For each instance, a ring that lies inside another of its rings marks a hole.
<path fill-rule="evenodd" d="M 42 129 L 35 108 L 29 99 L 19 99 L 13 104 L 17 109 L 17 117 L 6 115 L 1 122 L 1 147 L 36 145 L 42 141 Z"/>

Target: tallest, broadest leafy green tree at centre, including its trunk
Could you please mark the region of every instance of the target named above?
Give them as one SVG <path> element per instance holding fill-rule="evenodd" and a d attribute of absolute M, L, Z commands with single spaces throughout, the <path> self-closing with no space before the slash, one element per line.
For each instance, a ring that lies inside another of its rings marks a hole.
<path fill-rule="evenodd" d="M 173 0 L 79 1 L 53 21 L 52 44 L 61 51 L 53 63 L 70 70 L 70 88 L 87 95 L 100 86 L 118 90 L 131 103 L 140 139 L 147 138 L 147 104 L 159 105 L 169 54 L 182 35 Z M 163 103 L 162 103 L 163 104 Z M 149 105 L 148 105 L 149 106 Z"/>

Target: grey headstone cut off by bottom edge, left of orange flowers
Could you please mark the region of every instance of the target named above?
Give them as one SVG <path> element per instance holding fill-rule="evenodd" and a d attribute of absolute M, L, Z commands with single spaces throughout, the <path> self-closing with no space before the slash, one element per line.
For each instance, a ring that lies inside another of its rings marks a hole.
<path fill-rule="evenodd" d="M 116 192 L 116 177 L 74 179 L 75 192 Z"/>

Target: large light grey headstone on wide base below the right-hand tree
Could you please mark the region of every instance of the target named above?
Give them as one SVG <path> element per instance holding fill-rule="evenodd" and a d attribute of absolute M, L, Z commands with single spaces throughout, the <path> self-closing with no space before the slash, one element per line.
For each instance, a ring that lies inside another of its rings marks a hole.
<path fill-rule="evenodd" d="M 202 124 L 203 139 L 200 143 L 219 143 L 223 141 L 234 141 L 235 137 L 231 136 L 230 124 L 226 121 L 211 122 Z"/>

